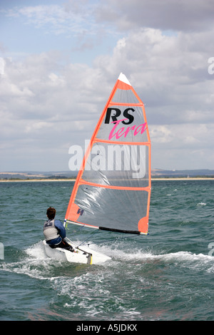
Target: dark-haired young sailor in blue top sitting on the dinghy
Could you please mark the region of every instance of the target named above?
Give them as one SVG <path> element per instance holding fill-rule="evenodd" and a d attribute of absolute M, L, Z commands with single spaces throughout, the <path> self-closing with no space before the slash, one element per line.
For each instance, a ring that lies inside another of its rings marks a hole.
<path fill-rule="evenodd" d="M 66 230 L 61 221 L 54 220 L 56 215 L 56 210 L 54 207 L 49 207 L 47 209 L 46 215 L 49 220 L 44 222 L 44 236 L 46 243 L 49 244 L 51 248 L 63 248 L 68 249 L 71 252 L 74 251 L 73 247 L 68 244 L 64 238 L 66 237 Z"/>

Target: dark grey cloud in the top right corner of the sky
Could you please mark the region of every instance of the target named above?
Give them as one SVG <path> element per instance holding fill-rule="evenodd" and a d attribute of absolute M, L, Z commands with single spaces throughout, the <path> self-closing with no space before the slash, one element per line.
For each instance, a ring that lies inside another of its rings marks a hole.
<path fill-rule="evenodd" d="M 208 31 L 214 7 L 209 0 L 102 0 L 98 21 L 111 22 L 121 31 L 142 27 L 163 31 Z"/>

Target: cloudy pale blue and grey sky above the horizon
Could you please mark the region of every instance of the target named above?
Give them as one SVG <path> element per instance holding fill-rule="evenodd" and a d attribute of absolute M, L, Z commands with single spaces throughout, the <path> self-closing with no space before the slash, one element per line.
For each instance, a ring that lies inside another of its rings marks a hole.
<path fill-rule="evenodd" d="M 214 169 L 213 0 L 1 0 L 0 171 L 68 171 L 122 72 L 152 168 Z"/>

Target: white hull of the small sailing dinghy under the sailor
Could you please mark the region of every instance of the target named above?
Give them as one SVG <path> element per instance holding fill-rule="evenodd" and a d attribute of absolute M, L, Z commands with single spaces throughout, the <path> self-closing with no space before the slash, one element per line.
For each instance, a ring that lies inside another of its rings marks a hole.
<path fill-rule="evenodd" d="M 44 248 L 46 255 L 50 258 L 59 259 L 63 262 L 71 262 L 71 263 L 81 263 L 81 264 L 100 264 L 108 261 L 111 257 L 106 256 L 105 254 L 101 254 L 94 250 L 91 250 L 87 247 L 83 247 L 83 249 L 76 248 L 72 243 L 73 249 L 75 252 L 71 252 L 62 248 L 52 249 L 49 247 L 49 244 L 44 240 Z"/>

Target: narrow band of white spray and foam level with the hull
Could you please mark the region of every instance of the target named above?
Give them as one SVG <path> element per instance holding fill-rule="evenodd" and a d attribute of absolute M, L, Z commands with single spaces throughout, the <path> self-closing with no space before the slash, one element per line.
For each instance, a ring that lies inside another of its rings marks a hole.
<path fill-rule="evenodd" d="M 76 242 L 76 245 L 79 241 Z M 195 269 L 203 269 L 206 272 L 214 272 L 214 257 L 205 254 L 194 254 L 192 252 L 170 252 L 163 254 L 153 254 L 152 252 L 144 251 L 138 248 L 126 248 L 124 245 L 118 244 L 118 246 L 100 246 L 93 244 L 91 251 L 101 252 L 107 254 L 111 257 L 106 263 L 98 265 L 98 267 L 123 267 L 123 264 L 146 264 L 146 263 L 156 263 L 162 262 L 163 264 L 174 264 L 179 267 L 192 267 Z M 76 264 L 72 264 L 73 267 L 79 267 Z M 44 250 L 44 244 L 42 241 L 33 244 L 31 247 L 26 248 L 22 254 L 22 259 L 17 262 L 3 263 L 1 264 L 1 269 L 9 272 L 16 272 L 19 274 L 26 274 L 29 277 L 34 277 L 36 279 L 51 279 L 58 278 L 61 276 L 56 275 L 56 270 L 58 268 L 68 267 L 68 262 L 61 262 L 58 259 L 51 259 L 46 256 Z M 86 277 L 90 276 L 90 269 L 88 265 L 81 264 L 81 267 L 85 267 Z M 90 268 L 96 267 L 92 265 Z M 93 272 L 93 270 L 92 270 Z M 74 283 L 75 283 L 75 279 Z M 97 278 L 97 282 L 100 282 L 101 278 Z M 78 281 L 79 284 L 79 281 Z"/>

